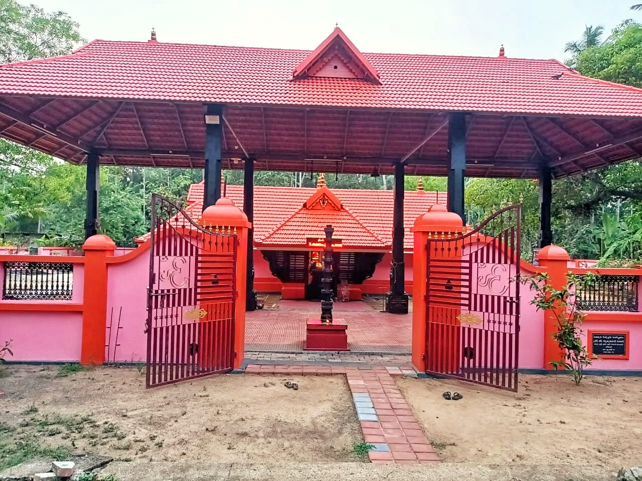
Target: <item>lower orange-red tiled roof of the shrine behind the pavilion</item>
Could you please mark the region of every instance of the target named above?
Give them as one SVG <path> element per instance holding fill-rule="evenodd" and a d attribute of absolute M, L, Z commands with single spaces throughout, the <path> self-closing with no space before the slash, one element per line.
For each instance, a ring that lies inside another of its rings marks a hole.
<path fill-rule="evenodd" d="M 392 245 L 392 190 L 365 190 L 365 189 L 332 189 L 331 192 L 341 201 L 346 213 L 337 215 L 336 210 L 304 210 L 306 201 L 317 192 L 317 189 L 306 187 L 268 187 L 254 186 L 254 240 L 264 242 L 271 236 L 277 227 L 282 226 L 282 233 L 275 233 L 270 239 L 276 243 L 282 241 L 283 236 L 293 237 L 299 241 L 290 244 L 305 242 L 309 235 L 322 235 L 325 224 L 333 224 L 336 229 L 335 237 L 344 241 L 350 239 L 356 245 L 359 239 L 370 244 L 362 247 L 374 247 L 374 242 L 383 243 L 384 246 Z M 243 208 L 243 186 L 227 185 L 225 196 L 231 199 L 236 206 Z M 446 192 L 424 192 L 410 190 L 404 192 L 404 249 L 411 251 L 413 237 L 410 233 L 415 219 L 424 214 L 431 205 L 440 203 L 446 205 Z M 193 219 L 200 219 L 203 210 L 203 183 L 193 184 L 187 194 L 186 212 Z M 328 216 L 335 215 L 333 221 Z M 317 221 L 313 217 L 317 217 Z M 349 217 L 352 217 L 352 221 Z M 338 223 L 335 225 L 334 223 Z M 359 227 L 361 225 L 361 228 Z M 351 235 L 346 230 L 354 230 Z M 315 233 L 314 229 L 318 231 Z M 360 232 L 358 232 L 360 229 Z M 344 233 L 345 232 L 345 233 Z M 286 244 L 283 244 L 286 245 Z"/>

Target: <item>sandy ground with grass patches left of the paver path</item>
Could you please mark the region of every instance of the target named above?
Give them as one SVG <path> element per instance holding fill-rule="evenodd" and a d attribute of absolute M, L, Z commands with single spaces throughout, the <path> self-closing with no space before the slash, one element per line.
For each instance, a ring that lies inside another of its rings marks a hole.
<path fill-rule="evenodd" d="M 58 369 L 6 367 L 0 419 L 15 439 L 146 462 L 354 461 L 363 441 L 343 376 L 298 378 L 299 391 L 256 375 L 146 390 L 135 368 Z"/>

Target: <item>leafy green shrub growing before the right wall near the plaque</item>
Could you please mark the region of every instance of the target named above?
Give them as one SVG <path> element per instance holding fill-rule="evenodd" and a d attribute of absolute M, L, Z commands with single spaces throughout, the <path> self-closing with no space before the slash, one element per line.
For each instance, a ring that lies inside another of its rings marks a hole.
<path fill-rule="evenodd" d="M 594 282 L 595 274 L 588 273 L 577 276 L 573 273 L 566 274 L 566 285 L 562 289 L 555 289 L 548 281 L 548 274 L 534 274 L 521 278 L 521 282 L 535 291 L 535 298 L 531 301 L 538 310 L 551 314 L 557 321 L 557 332 L 553 339 L 564 353 L 564 359 L 551 360 L 555 370 L 566 369 L 573 376 L 575 384 L 582 382 L 584 368 L 590 366 L 593 359 L 589 357 L 584 344 L 582 344 L 582 330 L 580 325 L 586 314 L 578 312 L 575 295 L 576 290 L 586 291 Z"/>

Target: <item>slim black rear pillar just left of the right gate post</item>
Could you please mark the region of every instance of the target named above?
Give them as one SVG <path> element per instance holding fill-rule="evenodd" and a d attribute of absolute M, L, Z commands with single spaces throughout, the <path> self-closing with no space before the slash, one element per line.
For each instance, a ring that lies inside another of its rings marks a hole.
<path fill-rule="evenodd" d="M 392 221 L 392 266 L 390 266 L 390 291 L 386 294 L 386 311 L 408 314 L 408 294 L 404 280 L 403 263 L 403 194 L 404 164 L 395 164 L 394 214 Z"/>

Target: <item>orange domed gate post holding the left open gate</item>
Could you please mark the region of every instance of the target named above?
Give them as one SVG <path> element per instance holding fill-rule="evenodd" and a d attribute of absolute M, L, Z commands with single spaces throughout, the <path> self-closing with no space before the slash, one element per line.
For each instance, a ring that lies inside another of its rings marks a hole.
<path fill-rule="evenodd" d="M 240 369 L 245 356 L 245 297 L 247 296 L 247 237 L 252 224 L 247 215 L 234 203 L 221 197 L 207 207 L 201 225 L 209 230 L 234 233 L 238 239 L 236 251 L 236 300 L 234 301 L 234 369 Z"/>

